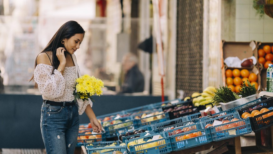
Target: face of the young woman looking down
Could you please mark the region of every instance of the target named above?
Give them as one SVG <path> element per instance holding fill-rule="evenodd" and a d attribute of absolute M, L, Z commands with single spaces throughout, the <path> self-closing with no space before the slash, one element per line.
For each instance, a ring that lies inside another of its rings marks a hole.
<path fill-rule="evenodd" d="M 83 34 L 75 34 L 69 39 L 64 39 L 64 47 L 66 52 L 72 55 L 77 49 L 80 48 L 82 41 L 83 41 Z"/>

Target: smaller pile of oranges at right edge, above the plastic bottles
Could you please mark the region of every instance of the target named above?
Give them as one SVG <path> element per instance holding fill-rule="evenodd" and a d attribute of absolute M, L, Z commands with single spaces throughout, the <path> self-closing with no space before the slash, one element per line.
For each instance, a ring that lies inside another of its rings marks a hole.
<path fill-rule="evenodd" d="M 272 64 L 273 61 L 273 46 L 265 45 L 258 50 L 258 61 L 264 68 L 268 68 L 268 64 Z"/>

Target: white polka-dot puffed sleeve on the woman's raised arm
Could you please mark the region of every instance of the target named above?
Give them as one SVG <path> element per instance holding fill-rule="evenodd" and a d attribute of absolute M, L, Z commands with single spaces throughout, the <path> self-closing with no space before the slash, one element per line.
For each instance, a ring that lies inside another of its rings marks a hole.
<path fill-rule="evenodd" d="M 34 70 L 34 80 L 38 89 L 47 98 L 58 98 L 63 95 L 65 82 L 61 72 L 54 70 L 51 75 L 52 66 L 38 64 Z"/>

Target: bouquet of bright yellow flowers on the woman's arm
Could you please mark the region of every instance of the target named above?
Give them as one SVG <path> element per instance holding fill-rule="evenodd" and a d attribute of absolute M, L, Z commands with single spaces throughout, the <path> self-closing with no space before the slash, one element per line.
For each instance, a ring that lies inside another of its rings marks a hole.
<path fill-rule="evenodd" d="M 74 91 L 75 99 L 88 100 L 94 94 L 102 95 L 102 88 L 104 87 L 104 82 L 94 76 L 90 77 L 87 74 L 76 79 L 76 87 Z"/>

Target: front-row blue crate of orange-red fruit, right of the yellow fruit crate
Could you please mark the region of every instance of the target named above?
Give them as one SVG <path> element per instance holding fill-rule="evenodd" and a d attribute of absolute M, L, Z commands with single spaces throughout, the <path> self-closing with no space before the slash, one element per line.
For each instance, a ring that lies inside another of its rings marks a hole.
<path fill-rule="evenodd" d="M 179 130 L 183 130 L 184 128 L 189 129 L 189 131 L 176 134 Z M 184 150 L 212 142 L 210 130 L 204 129 L 201 123 L 176 127 L 164 131 L 164 134 L 170 137 L 173 151 Z"/>

